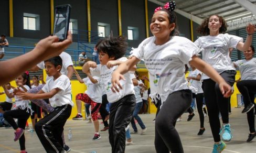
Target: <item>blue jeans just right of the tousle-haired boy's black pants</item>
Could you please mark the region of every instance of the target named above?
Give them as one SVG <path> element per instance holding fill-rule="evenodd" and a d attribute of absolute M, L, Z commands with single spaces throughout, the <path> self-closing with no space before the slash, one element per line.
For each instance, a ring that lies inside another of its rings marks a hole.
<path fill-rule="evenodd" d="M 141 126 L 141 129 L 145 129 L 146 126 L 145 126 L 144 123 L 142 122 L 141 117 L 138 116 L 138 112 L 140 112 L 142 106 L 143 106 L 143 102 L 138 102 L 138 103 L 136 103 L 135 109 L 134 109 L 134 111 L 133 111 L 133 117 L 137 120 L 138 125 Z M 136 124 L 135 124 L 135 122 L 134 122 L 134 118 L 132 118 L 131 124 L 132 124 L 133 130 L 134 130 L 135 132 L 137 132 L 138 129 L 137 129 Z"/>

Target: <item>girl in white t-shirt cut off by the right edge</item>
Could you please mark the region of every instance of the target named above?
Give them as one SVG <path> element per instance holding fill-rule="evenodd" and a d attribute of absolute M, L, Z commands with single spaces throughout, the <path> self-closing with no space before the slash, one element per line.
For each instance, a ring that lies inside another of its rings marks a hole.
<path fill-rule="evenodd" d="M 237 88 L 243 95 L 244 109 L 242 113 L 247 113 L 247 121 L 249 124 L 250 134 L 247 142 L 249 143 L 255 136 L 254 125 L 254 95 L 256 94 L 256 58 L 253 58 L 254 47 L 250 46 L 244 51 L 246 59 L 233 62 L 234 67 L 238 68 L 241 73 L 241 80 L 237 82 Z"/>

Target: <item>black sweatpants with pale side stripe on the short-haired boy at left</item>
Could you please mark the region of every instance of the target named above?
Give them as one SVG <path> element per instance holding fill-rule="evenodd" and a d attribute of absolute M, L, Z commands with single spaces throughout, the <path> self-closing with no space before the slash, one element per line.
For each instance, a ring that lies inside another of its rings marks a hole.
<path fill-rule="evenodd" d="M 53 112 L 42 118 L 35 125 L 36 134 L 46 152 L 61 152 L 63 150 L 63 127 L 71 114 L 72 106 L 56 107 Z"/>

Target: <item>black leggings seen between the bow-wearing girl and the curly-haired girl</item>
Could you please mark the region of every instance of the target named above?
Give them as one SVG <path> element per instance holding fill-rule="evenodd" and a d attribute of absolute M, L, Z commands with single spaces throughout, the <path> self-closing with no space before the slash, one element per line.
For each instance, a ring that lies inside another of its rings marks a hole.
<path fill-rule="evenodd" d="M 202 101 L 204 100 L 204 93 L 193 93 L 193 98 L 196 98 L 196 106 L 200 118 L 200 127 L 202 128 L 204 127 L 205 122 L 205 116 L 204 113 L 202 112 Z"/>

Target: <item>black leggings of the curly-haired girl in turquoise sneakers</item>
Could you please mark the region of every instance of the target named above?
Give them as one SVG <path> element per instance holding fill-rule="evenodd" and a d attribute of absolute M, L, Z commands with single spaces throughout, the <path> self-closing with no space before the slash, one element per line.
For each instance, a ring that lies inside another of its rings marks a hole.
<path fill-rule="evenodd" d="M 234 77 L 236 75 L 236 71 L 229 70 L 220 73 L 221 77 L 230 85 L 234 84 Z M 211 127 L 211 133 L 214 137 L 215 142 L 220 141 L 220 120 L 219 120 L 219 112 L 222 117 L 222 123 L 228 124 L 228 107 L 229 101 L 228 98 L 223 97 L 222 93 L 219 89 L 219 84 L 214 82 L 211 79 L 206 79 L 202 82 L 204 96 L 205 96 L 205 103 L 207 106 L 209 122 Z"/>

